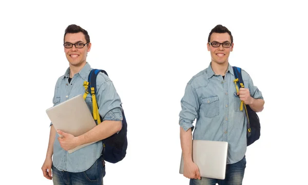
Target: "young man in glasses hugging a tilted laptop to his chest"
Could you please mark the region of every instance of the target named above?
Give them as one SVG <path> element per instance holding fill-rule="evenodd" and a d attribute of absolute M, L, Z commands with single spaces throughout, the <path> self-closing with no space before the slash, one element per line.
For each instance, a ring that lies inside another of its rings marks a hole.
<path fill-rule="evenodd" d="M 77 95 L 83 95 L 84 81 L 92 69 L 86 61 L 91 49 L 88 32 L 76 25 L 69 25 L 64 34 L 64 52 L 69 68 L 55 85 L 53 104 L 57 105 Z M 92 98 L 85 99 L 92 112 Z M 42 167 L 44 176 L 52 179 L 54 184 L 103 184 L 105 161 L 101 141 L 122 128 L 121 99 L 112 81 L 104 73 L 97 77 L 97 102 L 102 123 L 89 132 L 74 137 L 62 131 L 55 131 L 50 126 L 47 155 Z M 63 135 L 60 138 L 59 135 Z M 69 154 L 67 151 L 76 146 L 95 142 Z M 52 157 L 53 156 L 53 157 Z M 52 169 L 52 171 L 51 171 Z"/>

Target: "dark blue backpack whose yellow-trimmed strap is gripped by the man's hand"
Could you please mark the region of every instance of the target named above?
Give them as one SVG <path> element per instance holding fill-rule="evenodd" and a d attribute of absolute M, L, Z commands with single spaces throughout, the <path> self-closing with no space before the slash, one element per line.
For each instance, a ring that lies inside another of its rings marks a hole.
<path fill-rule="evenodd" d="M 239 87 L 236 86 L 236 89 L 237 91 L 239 91 L 239 88 L 245 87 L 242 78 L 242 69 L 240 67 L 233 66 L 233 71 L 235 75 L 235 80 L 234 80 L 235 85 L 238 84 L 239 86 Z M 243 105 L 245 107 L 246 120 L 247 120 L 247 146 L 249 146 L 260 138 L 261 126 L 257 113 L 254 112 L 254 110 L 251 109 L 249 105 L 246 105 L 243 101 L 241 101 L 240 110 L 242 110 Z"/>

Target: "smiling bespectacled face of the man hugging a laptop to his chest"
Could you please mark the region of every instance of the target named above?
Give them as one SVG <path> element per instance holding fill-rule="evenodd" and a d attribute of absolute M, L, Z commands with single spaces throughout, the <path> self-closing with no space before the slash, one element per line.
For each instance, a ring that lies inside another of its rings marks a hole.
<path fill-rule="evenodd" d="M 82 32 L 67 33 L 64 38 L 64 43 L 83 43 L 86 44 L 85 35 Z M 65 48 L 64 52 L 70 66 L 83 66 L 86 64 L 87 53 L 91 49 L 91 43 L 88 43 L 83 48 L 76 48 L 74 45 L 71 48 Z"/>

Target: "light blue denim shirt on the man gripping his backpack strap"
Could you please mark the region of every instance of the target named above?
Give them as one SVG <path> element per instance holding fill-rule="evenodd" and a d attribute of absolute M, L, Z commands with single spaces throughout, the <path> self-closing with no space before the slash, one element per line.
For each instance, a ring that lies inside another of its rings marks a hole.
<path fill-rule="evenodd" d="M 242 69 L 245 88 L 251 97 L 263 99 L 251 77 Z M 194 131 L 193 139 L 227 141 L 227 164 L 240 161 L 247 147 L 245 108 L 240 111 L 240 98 L 234 83 L 232 66 L 228 65 L 225 77 L 215 75 L 210 64 L 191 78 L 181 99 L 179 124 L 187 131 Z M 192 125 L 194 120 L 196 127 Z M 195 130 L 194 130 L 195 128 Z"/>

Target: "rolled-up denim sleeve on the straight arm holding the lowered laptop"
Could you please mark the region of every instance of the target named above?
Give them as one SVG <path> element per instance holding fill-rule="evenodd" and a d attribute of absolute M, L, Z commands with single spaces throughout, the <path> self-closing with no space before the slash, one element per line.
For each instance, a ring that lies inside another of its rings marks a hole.
<path fill-rule="evenodd" d="M 186 85 L 185 94 L 181 99 L 181 106 L 179 124 L 185 131 L 189 128 L 192 131 L 195 127 L 192 123 L 198 117 L 200 104 L 196 90 L 190 84 Z"/>

